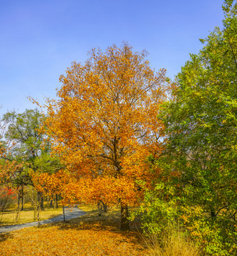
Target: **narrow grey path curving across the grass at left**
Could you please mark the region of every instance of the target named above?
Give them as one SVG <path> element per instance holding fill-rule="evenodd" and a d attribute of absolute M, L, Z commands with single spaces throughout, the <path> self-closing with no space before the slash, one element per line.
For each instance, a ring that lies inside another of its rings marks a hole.
<path fill-rule="evenodd" d="M 73 207 L 73 208 L 65 208 L 65 219 L 70 220 L 72 218 L 77 218 L 79 216 L 82 216 L 86 214 L 83 210 L 80 210 L 79 208 Z M 50 218 L 48 220 L 41 220 L 40 224 L 48 224 L 48 223 L 54 223 L 57 221 L 62 221 L 63 215 L 57 216 L 55 218 Z M 16 225 L 8 225 L 4 227 L 0 227 L 0 233 L 10 232 L 13 230 L 20 230 L 22 228 L 29 228 L 34 227 L 38 225 L 38 221 L 35 221 L 33 223 L 23 223 L 23 224 L 16 224 Z"/>

